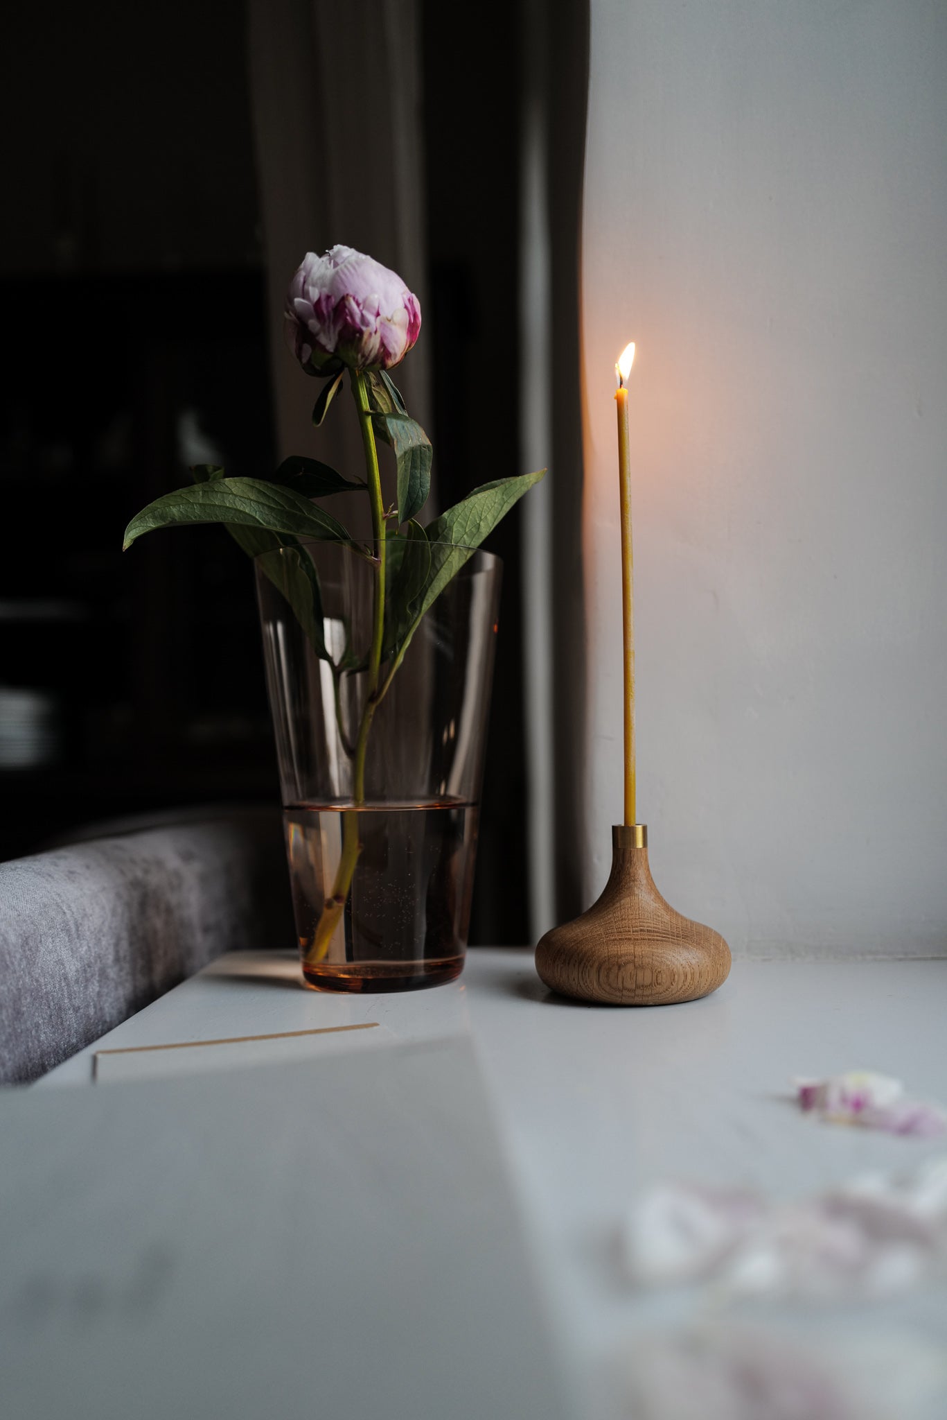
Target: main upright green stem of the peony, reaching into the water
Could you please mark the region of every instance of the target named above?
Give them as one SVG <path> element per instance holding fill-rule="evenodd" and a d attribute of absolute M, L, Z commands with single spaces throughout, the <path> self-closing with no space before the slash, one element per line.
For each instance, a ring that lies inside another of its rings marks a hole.
<path fill-rule="evenodd" d="M 352 395 L 358 409 L 362 429 L 362 444 L 365 447 L 365 466 L 368 469 L 368 491 L 372 504 L 372 537 L 375 540 L 375 606 L 372 613 L 372 649 L 368 657 L 368 694 L 362 720 L 358 727 L 355 741 L 355 758 L 352 763 L 352 804 L 355 808 L 342 815 L 342 856 L 335 872 L 332 895 L 327 897 L 325 906 L 317 923 L 305 953 L 307 966 L 321 961 L 329 950 L 329 943 L 345 912 L 345 903 L 352 889 L 352 878 L 362 843 L 358 836 L 358 808 L 365 804 L 365 755 L 368 751 L 368 733 L 375 719 L 379 694 L 378 682 L 382 667 L 382 648 L 385 643 L 385 504 L 382 503 L 382 477 L 378 467 L 378 449 L 375 447 L 375 430 L 372 429 L 372 409 L 368 400 L 368 382 L 361 369 L 352 371 Z M 388 687 L 385 687 L 388 689 Z"/>

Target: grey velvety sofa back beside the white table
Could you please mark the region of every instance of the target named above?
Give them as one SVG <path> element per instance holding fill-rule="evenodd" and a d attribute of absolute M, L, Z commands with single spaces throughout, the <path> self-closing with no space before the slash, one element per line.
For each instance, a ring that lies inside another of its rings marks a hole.
<path fill-rule="evenodd" d="M 0 1082 L 53 1069 L 221 951 L 294 944 L 278 811 L 0 863 Z"/>

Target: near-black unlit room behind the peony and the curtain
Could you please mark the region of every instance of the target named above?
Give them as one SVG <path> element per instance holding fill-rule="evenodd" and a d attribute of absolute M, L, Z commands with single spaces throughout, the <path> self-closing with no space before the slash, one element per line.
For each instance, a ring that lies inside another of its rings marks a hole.
<path fill-rule="evenodd" d="M 454 10 L 423 6 L 443 504 L 524 471 L 521 11 L 481 3 L 480 45 Z M 6 38 L 0 858 L 115 816 L 278 802 L 246 558 L 213 527 L 121 552 L 189 463 L 274 466 L 243 7 L 221 23 L 210 0 L 57 3 L 21 9 Z M 488 469 L 470 435 L 484 402 Z M 300 452 L 318 453 L 310 430 Z M 507 575 L 474 943 L 528 940 L 518 544 L 514 510 L 488 544 Z"/>

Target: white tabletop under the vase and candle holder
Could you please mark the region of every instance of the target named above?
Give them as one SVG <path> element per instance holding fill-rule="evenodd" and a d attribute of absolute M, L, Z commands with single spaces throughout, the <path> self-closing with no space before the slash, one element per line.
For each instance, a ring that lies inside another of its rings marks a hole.
<path fill-rule="evenodd" d="M 635 1010 L 552 997 L 520 950 L 471 950 L 460 981 L 382 995 L 317 994 L 288 956 L 233 953 L 35 1088 L 109 1088 L 91 1085 L 102 1047 L 363 1021 L 406 1041 L 470 1037 L 564 1353 L 591 1396 L 643 1321 L 699 1305 L 680 1292 L 636 1296 L 623 1279 L 618 1235 L 643 1187 L 687 1179 L 792 1197 L 947 1153 L 944 1140 L 821 1125 L 788 1085 L 862 1068 L 947 1100 L 946 1020 L 947 960 L 737 961 L 716 995 Z M 947 1336 L 941 1289 L 873 1309 L 886 1316 Z"/>

